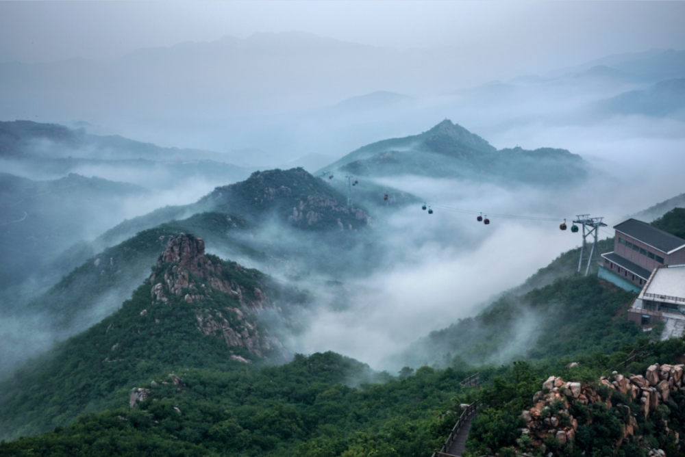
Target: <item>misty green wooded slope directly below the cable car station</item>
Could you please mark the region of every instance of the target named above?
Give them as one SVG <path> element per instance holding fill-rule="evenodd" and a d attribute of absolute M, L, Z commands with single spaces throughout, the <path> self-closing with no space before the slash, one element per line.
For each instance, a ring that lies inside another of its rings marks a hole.
<path fill-rule="evenodd" d="M 641 333 L 625 318 L 634 298 L 597 276 L 558 278 L 523 296 L 502 296 L 477 316 L 432 332 L 406 356 L 413 363 L 443 365 L 453 358 L 480 365 L 612 352 Z"/>

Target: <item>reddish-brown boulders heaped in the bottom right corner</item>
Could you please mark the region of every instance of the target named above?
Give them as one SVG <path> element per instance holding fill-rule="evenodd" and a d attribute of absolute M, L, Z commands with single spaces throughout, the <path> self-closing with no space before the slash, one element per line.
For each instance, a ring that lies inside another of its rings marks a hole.
<path fill-rule="evenodd" d="M 685 391 L 683 370 L 685 365 L 659 365 L 654 364 L 647 368 L 645 376 L 633 375 L 626 378 L 621 374 L 614 374 L 607 378 L 602 376 L 599 385 L 608 389 L 619 391 L 628 395 L 633 401 L 639 402 L 640 413 L 645 418 L 650 411 L 663 402 L 669 400 L 671 392 L 680 389 Z M 607 408 L 612 408 L 610 397 L 603 400 L 599 395 L 598 387 L 591 387 L 580 382 L 564 382 L 562 378 L 550 376 L 543 382 L 543 390 L 535 393 L 534 406 L 530 410 L 524 410 L 521 417 L 526 423 L 523 434 L 530 436 L 532 444 L 540 446 L 548 436 L 554 436 L 560 443 L 573 441 L 578 428 L 577 419 L 569 414 L 569 406 L 572 402 L 580 402 L 584 405 L 603 402 Z M 630 414 L 630 408 L 626 405 L 618 405 L 617 408 L 627 408 L 626 422 L 623 423 L 623 438 L 634 434 L 637 425 L 636 419 Z M 677 432 L 675 441 L 678 440 Z M 658 454 L 655 454 L 658 455 Z"/>

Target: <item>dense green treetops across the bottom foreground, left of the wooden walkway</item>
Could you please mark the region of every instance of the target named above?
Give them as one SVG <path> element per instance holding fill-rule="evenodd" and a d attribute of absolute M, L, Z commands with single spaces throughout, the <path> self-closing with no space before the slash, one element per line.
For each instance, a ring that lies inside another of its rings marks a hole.
<path fill-rule="evenodd" d="M 330 352 L 280 367 L 178 376 L 179 385 L 162 384 L 171 381 L 164 371 L 150 376 L 157 385 L 145 382 L 151 398 L 138 408 L 123 406 L 121 395 L 119 408 L 0 444 L 0 454 L 419 457 L 440 445 L 454 408 L 475 393 L 460 387 L 467 374 L 453 369 L 423 367 L 400 380 Z M 372 380 L 386 382 L 364 383 Z M 361 384 L 343 384 L 351 382 Z"/>

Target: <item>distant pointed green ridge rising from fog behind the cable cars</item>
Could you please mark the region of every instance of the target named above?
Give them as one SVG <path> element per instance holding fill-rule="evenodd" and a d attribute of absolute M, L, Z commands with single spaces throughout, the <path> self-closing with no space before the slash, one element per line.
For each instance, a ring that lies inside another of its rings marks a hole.
<path fill-rule="evenodd" d="M 501 185 L 551 185 L 582 181 L 590 166 L 565 149 L 519 146 L 497 150 L 450 120 L 419 135 L 363 146 L 322 170 L 366 177 L 419 174 L 429 177 L 498 180 Z"/>

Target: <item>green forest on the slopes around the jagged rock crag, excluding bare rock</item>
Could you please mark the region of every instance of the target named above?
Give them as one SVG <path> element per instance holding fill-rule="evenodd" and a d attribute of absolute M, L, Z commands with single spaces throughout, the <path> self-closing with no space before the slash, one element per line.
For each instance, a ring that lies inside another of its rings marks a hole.
<path fill-rule="evenodd" d="M 221 280 L 242 289 L 242 298 L 208 287 L 196 278 L 197 284 L 205 286 L 201 299 L 186 302 L 182 298 L 184 291 L 180 296 L 169 296 L 166 303 L 151 301 L 153 284 L 145 280 L 121 309 L 3 380 L 1 434 L 43 432 L 84 412 L 100 410 L 116 401 L 121 404 L 131 383 L 142 382 L 162 371 L 180 367 L 230 370 L 242 365 L 232 360 L 232 355 L 255 358 L 245 346 L 229 346 L 219 337 L 203 335 L 197 326 L 197 313 L 240 309 L 240 300 L 253 299 L 256 287 L 271 299 L 273 319 L 284 326 L 297 326 L 295 307 L 308 304 L 306 293 L 274 283 L 257 270 L 209 257 L 216 265 L 222 265 Z M 169 264 L 163 263 L 153 272 L 157 278 L 163 278 L 169 268 Z M 240 315 L 225 312 L 225 318 L 254 344 L 269 347 L 264 344 L 269 330 L 256 321 L 249 309 L 242 309 Z M 273 354 L 265 351 L 262 354 L 267 357 L 283 356 L 277 348 L 273 348 Z"/>

